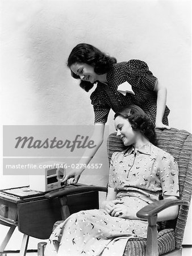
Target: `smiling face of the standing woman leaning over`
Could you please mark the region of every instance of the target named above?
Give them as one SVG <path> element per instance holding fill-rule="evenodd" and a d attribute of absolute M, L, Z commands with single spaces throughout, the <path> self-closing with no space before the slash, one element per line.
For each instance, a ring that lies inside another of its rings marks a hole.
<path fill-rule="evenodd" d="M 93 84 L 98 80 L 98 75 L 94 72 L 94 67 L 86 63 L 74 63 L 70 66 L 70 69 L 83 81 L 88 81 Z"/>

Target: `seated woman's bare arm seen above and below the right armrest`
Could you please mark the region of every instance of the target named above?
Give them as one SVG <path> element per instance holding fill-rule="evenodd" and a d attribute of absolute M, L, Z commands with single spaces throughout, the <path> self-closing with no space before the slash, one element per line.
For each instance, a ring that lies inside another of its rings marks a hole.
<path fill-rule="evenodd" d="M 164 199 L 177 199 L 177 196 L 164 196 Z M 178 214 L 178 205 L 174 205 L 173 207 L 166 208 L 162 210 L 162 212 L 157 214 L 157 221 L 167 221 L 174 220 L 177 218 Z"/>

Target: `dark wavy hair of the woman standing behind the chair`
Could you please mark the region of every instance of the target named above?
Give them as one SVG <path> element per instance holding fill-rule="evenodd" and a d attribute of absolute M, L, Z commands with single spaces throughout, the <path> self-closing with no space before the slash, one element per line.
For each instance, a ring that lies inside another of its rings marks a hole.
<path fill-rule="evenodd" d="M 67 66 L 70 68 L 74 63 L 86 63 L 92 67 L 94 67 L 94 72 L 98 75 L 103 75 L 107 73 L 112 65 L 116 63 L 116 59 L 114 57 L 110 57 L 106 55 L 104 52 L 101 52 L 98 48 L 91 46 L 91 44 L 77 44 L 76 47 L 72 49 L 68 57 Z M 80 79 L 73 71 L 71 71 L 72 77 L 75 79 Z M 89 81 L 81 81 L 80 86 L 86 92 L 89 92 L 93 85 Z"/>

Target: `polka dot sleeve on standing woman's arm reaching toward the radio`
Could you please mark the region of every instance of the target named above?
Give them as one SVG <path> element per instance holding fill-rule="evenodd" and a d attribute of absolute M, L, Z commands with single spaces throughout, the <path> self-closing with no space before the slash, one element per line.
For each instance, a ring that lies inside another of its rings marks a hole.
<path fill-rule="evenodd" d="M 110 106 L 105 103 L 105 98 L 102 91 L 96 88 L 90 96 L 91 104 L 95 114 L 94 123 L 106 123 L 108 113 L 110 112 Z"/>

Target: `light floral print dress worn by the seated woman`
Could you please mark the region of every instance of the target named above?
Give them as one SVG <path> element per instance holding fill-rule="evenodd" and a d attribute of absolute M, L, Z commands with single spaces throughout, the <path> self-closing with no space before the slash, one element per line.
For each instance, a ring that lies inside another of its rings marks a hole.
<path fill-rule="evenodd" d="M 132 216 L 160 195 L 179 196 L 178 166 L 173 156 L 151 143 L 128 148 L 111 158 L 108 186 Z M 103 209 L 69 216 L 51 234 L 45 256 L 122 256 L 128 239 L 147 237 L 148 222 L 111 217 Z"/>

